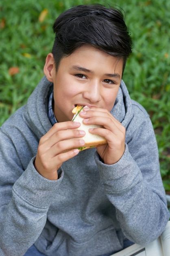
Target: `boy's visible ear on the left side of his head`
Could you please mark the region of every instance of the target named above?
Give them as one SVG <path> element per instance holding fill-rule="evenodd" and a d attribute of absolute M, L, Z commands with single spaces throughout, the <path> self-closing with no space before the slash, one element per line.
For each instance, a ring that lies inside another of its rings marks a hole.
<path fill-rule="evenodd" d="M 55 63 L 52 53 L 49 53 L 46 57 L 46 63 L 44 65 L 44 74 L 48 81 L 53 82 L 53 72 L 55 72 Z"/>

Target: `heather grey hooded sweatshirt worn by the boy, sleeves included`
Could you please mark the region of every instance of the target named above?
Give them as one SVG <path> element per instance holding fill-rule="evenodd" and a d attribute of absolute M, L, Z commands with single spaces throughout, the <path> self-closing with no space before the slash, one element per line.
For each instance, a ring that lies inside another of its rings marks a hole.
<path fill-rule="evenodd" d="M 126 128 L 122 158 L 106 165 L 95 148 L 64 162 L 58 180 L 37 173 L 39 139 L 52 127 L 44 77 L 0 129 L 0 256 L 35 243 L 47 256 L 98 256 L 123 240 L 145 245 L 169 218 L 149 116 L 122 81 L 111 114 Z"/>

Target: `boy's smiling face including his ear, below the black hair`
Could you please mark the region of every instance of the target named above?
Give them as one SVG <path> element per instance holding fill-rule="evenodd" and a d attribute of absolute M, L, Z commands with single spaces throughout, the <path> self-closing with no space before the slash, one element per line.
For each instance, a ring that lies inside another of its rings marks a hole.
<path fill-rule="evenodd" d="M 109 111 L 113 108 L 122 79 L 122 59 L 84 45 L 62 58 L 57 72 L 50 63 L 54 63 L 52 54 L 44 73 L 54 83 L 54 115 L 58 122 L 72 120 L 76 105 Z M 50 70 L 50 76 L 46 70 Z"/>

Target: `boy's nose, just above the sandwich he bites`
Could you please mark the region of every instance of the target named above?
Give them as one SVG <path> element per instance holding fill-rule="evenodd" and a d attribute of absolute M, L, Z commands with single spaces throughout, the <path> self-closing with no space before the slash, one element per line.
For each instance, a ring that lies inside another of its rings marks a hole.
<path fill-rule="evenodd" d="M 100 83 L 91 82 L 88 85 L 86 84 L 85 90 L 83 92 L 83 97 L 88 99 L 92 103 L 96 103 L 101 100 L 101 88 Z"/>

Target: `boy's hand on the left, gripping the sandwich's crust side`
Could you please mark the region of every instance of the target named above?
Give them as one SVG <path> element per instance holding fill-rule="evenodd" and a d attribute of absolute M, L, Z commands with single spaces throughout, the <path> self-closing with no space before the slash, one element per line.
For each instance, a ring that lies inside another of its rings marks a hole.
<path fill-rule="evenodd" d="M 77 155 L 77 148 L 85 144 L 83 139 L 75 139 L 85 135 L 85 131 L 76 130 L 79 126 L 74 121 L 57 123 L 41 137 L 34 164 L 39 174 L 48 180 L 58 179 L 62 163 Z"/>

